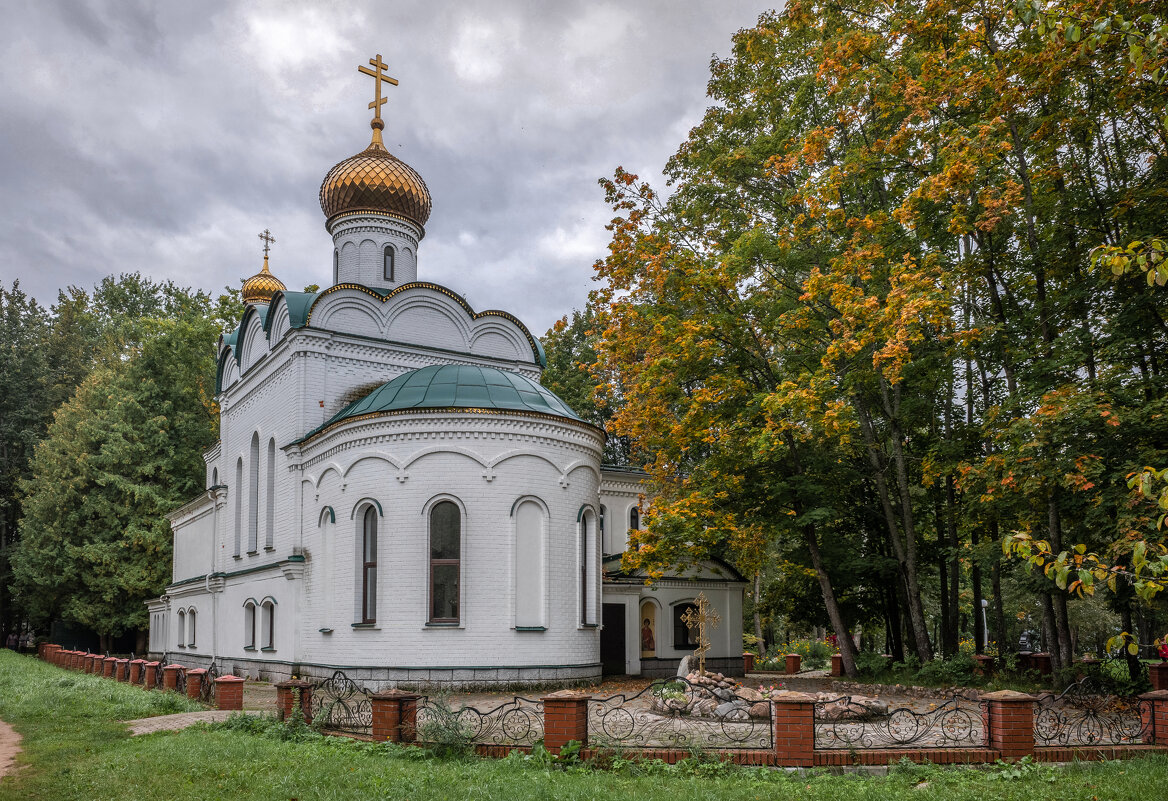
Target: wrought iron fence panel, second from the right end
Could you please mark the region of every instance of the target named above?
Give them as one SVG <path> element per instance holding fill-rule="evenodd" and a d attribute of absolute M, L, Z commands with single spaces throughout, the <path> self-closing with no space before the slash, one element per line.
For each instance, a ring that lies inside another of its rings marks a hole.
<path fill-rule="evenodd" d="M 815 747 L 835 748 L 968 748 L 985 745 L 982 704 L 953 696 L 926 711 L 908 706 L 875 711 L 843 697 L 814 704 Z"/>

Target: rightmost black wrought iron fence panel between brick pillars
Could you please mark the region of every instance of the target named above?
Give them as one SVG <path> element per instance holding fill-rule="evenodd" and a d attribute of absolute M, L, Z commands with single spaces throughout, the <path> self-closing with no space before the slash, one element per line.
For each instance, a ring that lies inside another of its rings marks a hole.
<path fill-rule="evenodd" d="M 1054 695 L 1038 696 L 1036 745 L 1132 745 L 1142 741 L 1150 715 L 1139 698 L 1107 695 L 1087 676 Z"/>

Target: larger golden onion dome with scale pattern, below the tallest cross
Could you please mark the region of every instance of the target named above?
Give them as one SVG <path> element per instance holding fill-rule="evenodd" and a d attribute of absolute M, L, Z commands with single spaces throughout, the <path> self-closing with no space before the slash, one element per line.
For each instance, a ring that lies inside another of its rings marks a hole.
<path fill-rule="evenodd" d="M 369 147 L 340 162 L 320 184 L 320 209 L 328 223 L 353 211 L 375 211 L 424 227 L 430 218 L 430 190 L 412 167 L 390 154 L 373 120 Z"/>

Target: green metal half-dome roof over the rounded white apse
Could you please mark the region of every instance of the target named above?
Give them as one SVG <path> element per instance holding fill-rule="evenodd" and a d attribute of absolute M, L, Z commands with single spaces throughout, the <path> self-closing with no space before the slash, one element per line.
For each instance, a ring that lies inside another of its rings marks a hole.
<path fill-rule="evenodd" d="M 584 423 L 555 392 L 517 372 L 473 364 L 433 364 L 382 384 L 304 439 L 349 418 L 424 409 L 535 412 Z"/>

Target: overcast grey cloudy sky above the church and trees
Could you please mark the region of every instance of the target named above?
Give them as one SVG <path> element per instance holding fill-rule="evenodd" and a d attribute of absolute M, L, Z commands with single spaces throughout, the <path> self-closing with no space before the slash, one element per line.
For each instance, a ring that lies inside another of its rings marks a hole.
<path fill-rule="evenodd" d="M 327 286 L 317 193 L 369 141 L 433 196 L 418 278 L 542 334 L 583 307 L 612 216 L 597 179 L 660 184 L 707 106 L 710 57 L 767 4 L 148 2 L 0 6 L 0 280 L 58 287 L 141 271 L 216 291 L 271 267 Z"/>

